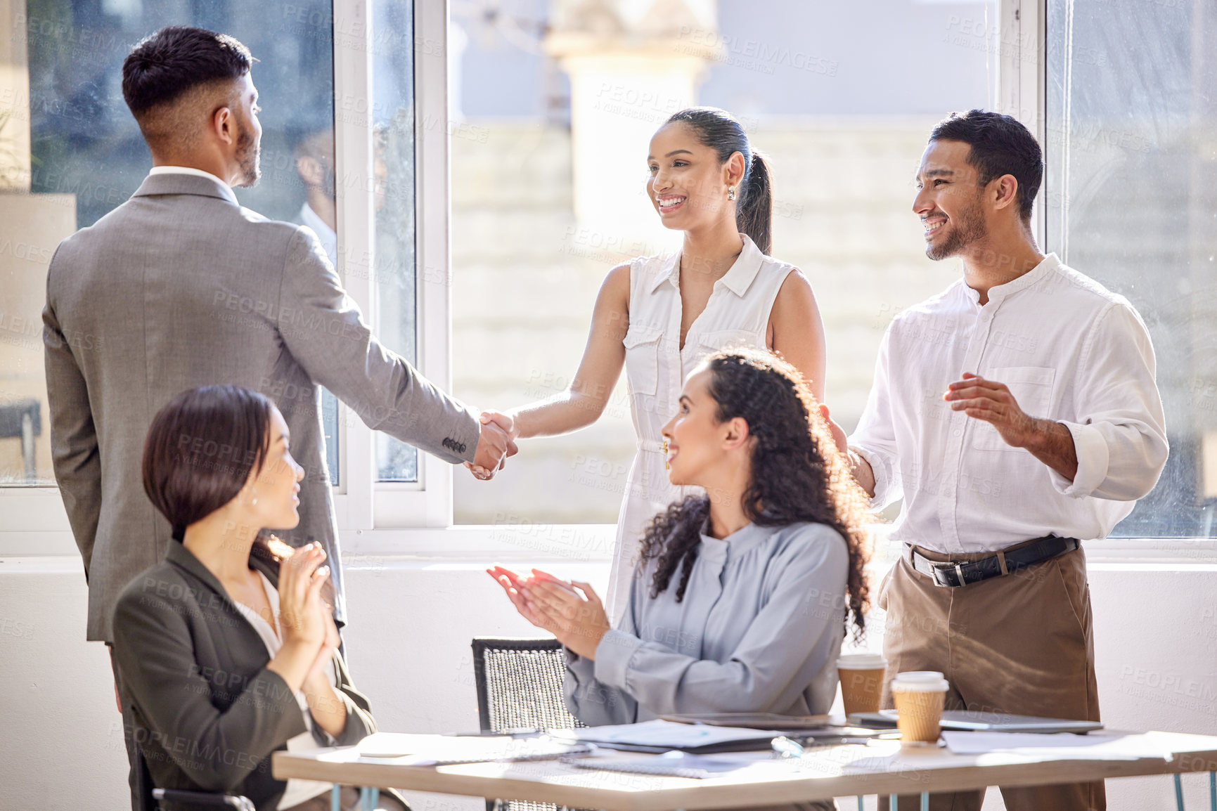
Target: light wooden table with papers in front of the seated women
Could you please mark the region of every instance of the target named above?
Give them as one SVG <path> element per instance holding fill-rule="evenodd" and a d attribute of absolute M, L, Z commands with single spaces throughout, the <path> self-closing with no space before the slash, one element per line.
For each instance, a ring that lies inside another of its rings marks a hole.
<path fill-rule="evenodd" d="M 1112 733 L 1106 733 L 1112 734 Z M 1118 733 L 1116 733 L 1118 734 Z M 989 753 L 957 755 L 946 748 L 901 748 L 899 742 L 824 747 L 798 761 L 768 760 L 723 777 L 690 779 L 585 770 L 557 761 L 483 762 L 460 766 L 394 765 L 360 758 L 386 749 L 425 751 L 441 736 L 377 733 L 360 747 L 276 751 L 276 778 L 299 777 L 347 785 L 374 785 L 554 802 L 607 811 L 671 811 L 776 805 L 864 794 L 922 795 L 930 792 L 982 789 L 988 785 L 1043 785 L 1145 775 L 1217 772 L 1217 737 L 1171 732 L 1128 733 L 1131 739 L 1167 753 L 1163 758 L 1079 760 Z M 447 740 L 452 740 L 447 738 Z M 400 748 L 400 749 L 398 749 Z M 639 758 L 611 753 L 606 758 Z M 1210 776 L 1213 811 L 1217 784 Z M 859 801 L 860 807 L 860 801 Z"/>

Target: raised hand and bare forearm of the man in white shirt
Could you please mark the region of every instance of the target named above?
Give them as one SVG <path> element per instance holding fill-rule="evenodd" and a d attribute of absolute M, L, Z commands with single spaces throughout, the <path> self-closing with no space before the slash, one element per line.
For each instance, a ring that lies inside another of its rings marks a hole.
<path fill-rule="evenodd" d="M 950 404 L 952 411 L 989 423 L 1006 445 L 1026 449 L 1070 481 L 1077 475 L 1077 449 L 1070 429 L 1027 415 L 1005 383 L 964 372 L 963 379 L 947 387 L 942 399 Z"/>

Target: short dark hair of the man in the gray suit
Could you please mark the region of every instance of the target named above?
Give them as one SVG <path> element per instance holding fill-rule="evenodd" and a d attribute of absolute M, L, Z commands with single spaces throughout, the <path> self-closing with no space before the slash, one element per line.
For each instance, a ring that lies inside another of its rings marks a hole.
<path fill-rule="evenodd" d="M 140 40 L 123 61 L 123 98 L 136 120 L 200 85 L 249 72 L 249 49 L 228 34 L 169 26 Z"/>

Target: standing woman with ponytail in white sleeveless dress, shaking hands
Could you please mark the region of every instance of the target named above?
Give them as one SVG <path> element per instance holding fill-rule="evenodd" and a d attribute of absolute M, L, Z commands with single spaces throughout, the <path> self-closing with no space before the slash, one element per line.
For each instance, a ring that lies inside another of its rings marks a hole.
<path fill-rule="evenodd" d="M 660 219 L 684 231 L 680 252 L 641 257 L 608 272 L 566 392 L 482 415 L 512 439 L 583 428 L 604 411 L 624 364 L 638 454 L 617 522 L 607 595 L 612 618 L 629 593 L 646 524 L 699 490 L 668 483 L 660 435 L 699 361 L 725 347 L 772 349 L 802 372 L 817 400 L 824 398 L 819 309 L 807 278 L 767 255 L 769 169 L 739 122 L 713 107 L 680 111 L 651 139 L 646 162 L 647 193 Z"/>

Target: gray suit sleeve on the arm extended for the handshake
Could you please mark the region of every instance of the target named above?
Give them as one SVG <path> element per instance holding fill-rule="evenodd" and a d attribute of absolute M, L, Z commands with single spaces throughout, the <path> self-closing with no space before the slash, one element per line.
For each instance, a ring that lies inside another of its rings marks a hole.
<path fill-rule="evenodd" d="M 292 356 L 369 428 L 447 462 L 473 461 L 477 415 L 381 345 L 307 227 L 288 243 L 279 298 L 279 328 Z"/>

